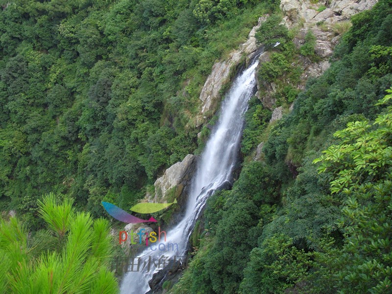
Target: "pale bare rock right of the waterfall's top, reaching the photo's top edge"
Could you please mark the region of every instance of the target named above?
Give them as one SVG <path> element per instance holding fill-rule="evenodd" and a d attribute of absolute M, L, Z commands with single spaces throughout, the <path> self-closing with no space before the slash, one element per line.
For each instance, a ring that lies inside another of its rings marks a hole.
<path fill-rule="evenodd" d="M 348 19 L 358 12 L 370 9 L 376 2 L 377 0 L 332 0 L 330 2 L 322 0 L 318 3 L 311 3 L 310 0 L 281 0 L 280 9 L 284 14 L 283 24 L 288 28 L 296 26 L 299 29 L 293 40 L 295 47 L 299 49 L 305 43 L 308 31 L 312 31 L 316 38 L 317 58 L 313 60 L 318 61 L 314 62 L 309 57 L 300 56 L 296 64 L 303 71 L 300 83 L 297 85 L 299 90 L 305 88 L 309 77 L 318 77 L 329 68 L 329 58 L 339 42 L 340 34 L 349 28 Z M 260 65 L 270 61 L 270 52 L 263 52 L 259 59 Z M 273 82 L 257 80 L 257 90 L 256 96 L 263 102 L 264 107 L 274 110 L 276 85 Z M 280 109 L 274 111 L 280 111 Z"/>

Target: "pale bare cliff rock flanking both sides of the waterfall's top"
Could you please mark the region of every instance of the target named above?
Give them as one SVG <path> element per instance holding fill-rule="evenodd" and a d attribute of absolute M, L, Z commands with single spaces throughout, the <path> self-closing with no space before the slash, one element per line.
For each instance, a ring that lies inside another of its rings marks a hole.
<path fill-rule="evenodd" d="M 370 9 L 377 0 L 281 0 L 280 9 L 284 15 L 283 23 L 288 28 L 298 27 L 298 33 L 294 38 L 294 44 L 299 49 L 305 42 L 306 33 L 311 30 L 316 37 L 315 52 L 319 57 L 317 62 L 301 56 L 300 66 L 303 70 L 299 89 L 303 89 L 309 77 L 317 77 L 329 68 L 329 57 L 340 39 L 344 27 L 349 26 L 349 19 L 354 14 Z M 258 49 L 255 33 L 261 23 L 268 16 L 259 18 L 259 22 L 252 28 L 248 40 L 239 49 L 234 50 L 226 60 L 214 64 L 211 74 L 208 76 L 200 94 L 202 101 L 197 125 L 201 125 L 207 117 L 214 113 L 221 99 L 222 87 L 230 81 L 231 71 L 241 62 L 243 56 L 252 58 Z M 260 63 L 269 61 L 269 52 L 260 56 Z M 265 107 L 273 110 L 275 100 L 271 93 L 275 92 L 273 83 L 258 83 L 258 90 L 263 89 L 263 97 L 260 91 L 256 94 L 262 100 Z"/>

